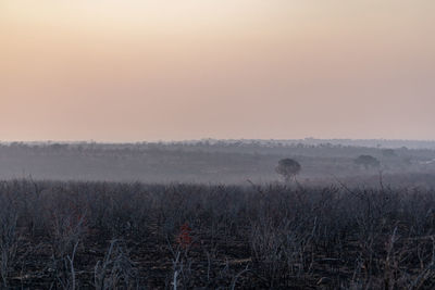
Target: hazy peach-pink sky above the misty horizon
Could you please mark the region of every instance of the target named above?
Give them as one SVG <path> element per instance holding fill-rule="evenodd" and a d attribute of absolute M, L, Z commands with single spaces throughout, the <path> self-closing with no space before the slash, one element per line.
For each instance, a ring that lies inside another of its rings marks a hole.
<path fill-rule="evenodd" d="M 433 0 L 1 0 L 0 140 L 435 139 Z"/>

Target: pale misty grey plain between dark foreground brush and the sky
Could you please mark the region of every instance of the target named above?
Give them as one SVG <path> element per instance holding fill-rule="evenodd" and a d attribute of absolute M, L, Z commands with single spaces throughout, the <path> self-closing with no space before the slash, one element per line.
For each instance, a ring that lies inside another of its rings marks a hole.
<path fill-rule="evenodd" d="M 327 142 L 330 141 L 330 142 Z M 196 182 L 246 185 L 279 180 L 281 159 L 298 161 L 299 182 L 377 186 L 380 171 L 386 184 L 435 187 L 435 142 L 399 142 L 393 151 L 374 140 L 372 147 L 332 143 L 334 140 L 201 141 L 173 143 L 0 143 L 0 179 L 141 181 L 146 184 Z M 336 141 L 337 142 L 337 141 Z M 345 142 L 341 140 L 341 142 Z M 412 147 L 411 147 L 412 146 Z M 431 149 L 424 149 L 428 147 Z M 361 154 L 376 157 L 381 166 L 355 164 Z M 372 182 L 371 180 L 374 180 Z"/>

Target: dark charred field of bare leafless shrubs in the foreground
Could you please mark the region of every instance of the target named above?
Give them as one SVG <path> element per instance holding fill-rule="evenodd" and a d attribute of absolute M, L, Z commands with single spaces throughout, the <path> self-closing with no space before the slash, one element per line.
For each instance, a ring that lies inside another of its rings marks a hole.
<path fill-rule="evenodd" d="M 435 191 L 337 184 L 0 186 L 11 289 L 433 289 Z"/>

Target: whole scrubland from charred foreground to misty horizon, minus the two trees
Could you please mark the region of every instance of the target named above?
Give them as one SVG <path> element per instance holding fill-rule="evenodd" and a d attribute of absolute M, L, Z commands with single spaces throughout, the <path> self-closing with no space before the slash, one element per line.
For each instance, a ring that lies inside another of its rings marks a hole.
<path fill-rule="evenodd" d="M 433 143 L 315 142 L 1 143 L 1 285 L 435 287 Z"/>

